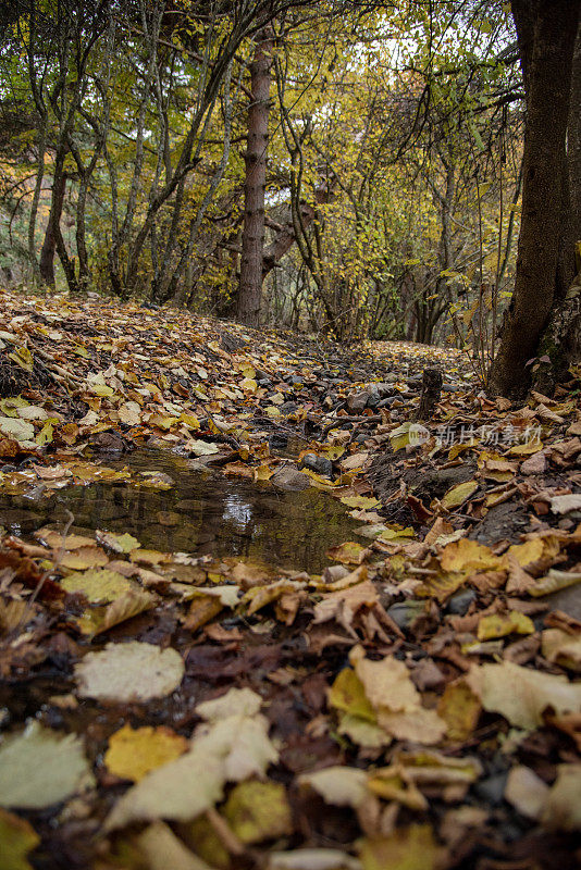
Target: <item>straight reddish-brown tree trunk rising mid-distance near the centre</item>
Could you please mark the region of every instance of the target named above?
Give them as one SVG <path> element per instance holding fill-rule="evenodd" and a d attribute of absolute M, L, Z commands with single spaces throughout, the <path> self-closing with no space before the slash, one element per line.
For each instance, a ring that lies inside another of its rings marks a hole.
<path fill-rule="evenodd" d="M 248 109 L 244 229 L 237 306 L 238 320 L 247 326 L 255 327 L 260 322 L 260 297 L 262 291 L 271 49 L 272 34 L 270 28 L 267 28 L 258 36 L 255 60 L 250 65 L 252 101 Z"/>

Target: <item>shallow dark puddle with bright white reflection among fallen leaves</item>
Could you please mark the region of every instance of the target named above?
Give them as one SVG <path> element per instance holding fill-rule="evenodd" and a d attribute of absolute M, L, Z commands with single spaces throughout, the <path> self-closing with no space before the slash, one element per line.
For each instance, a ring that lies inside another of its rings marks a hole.
<path fill-rule="evenodd" d="M 63 522 L 66 508 L 75 529 L 129 532 L 147 548 L 250 557 L 311 573 L 329 563 L 329 547 L 354 539 L 360 526 L 343 505 L 313 487 L 281 493 L 269 483 L 193 470 L 187 459 L 166 450 L 141 448 L 116 460 L 106 457 L 102 463 L 161 471 L 174 486 L 159 490 L 96 483 L 34 502 L 1 495 L 0 523 L 12 534 L 29 535 L 49 522 Z"/>

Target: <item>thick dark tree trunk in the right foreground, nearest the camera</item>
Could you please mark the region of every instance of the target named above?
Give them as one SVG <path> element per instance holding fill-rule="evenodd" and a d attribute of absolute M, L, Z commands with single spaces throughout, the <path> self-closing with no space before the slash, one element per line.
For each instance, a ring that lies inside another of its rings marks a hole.
<path fill-rule="evenodd" d="M 527 95 L 522 216 L 515 293 L 489 378 L 491 393 L 521 396 L 560 284 L 566 134 L 581 0 L 512 0 Z"/>

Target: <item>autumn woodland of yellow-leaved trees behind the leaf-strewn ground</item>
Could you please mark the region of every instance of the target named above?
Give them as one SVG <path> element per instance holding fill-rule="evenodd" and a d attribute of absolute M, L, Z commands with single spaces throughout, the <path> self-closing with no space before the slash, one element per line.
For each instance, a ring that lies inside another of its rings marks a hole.
<path fill-rule="evenodd" d="M 527 51 L 546 78 L 543 45 L 559 49 L 555 164 L 577 0 L 27 0 L 1 15 L 4 286 L 449 343 L 486 378 L 515 286 Z M 521 368 L 547 359 L 547 318 Z"/>

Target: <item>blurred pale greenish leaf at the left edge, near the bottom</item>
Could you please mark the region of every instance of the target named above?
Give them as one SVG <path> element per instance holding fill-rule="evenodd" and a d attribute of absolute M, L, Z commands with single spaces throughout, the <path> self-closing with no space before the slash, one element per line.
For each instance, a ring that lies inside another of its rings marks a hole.
<path fill-rule="evenodd" d="M 92 785 L 94 778 L 76 734 L 30 722 L 0 746 L 0 806 L 44 809 Z"/>

